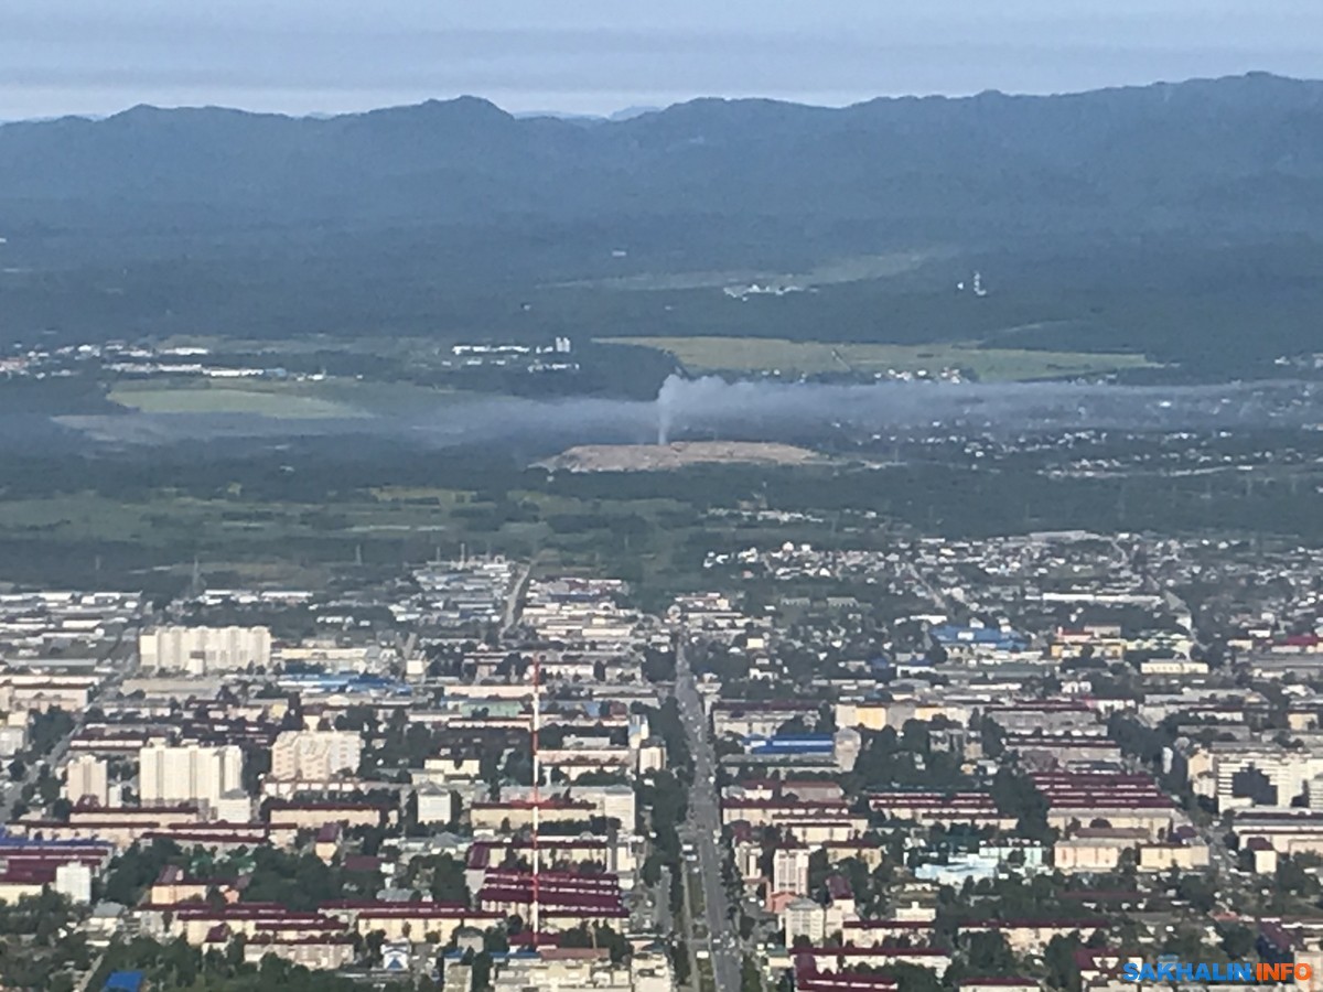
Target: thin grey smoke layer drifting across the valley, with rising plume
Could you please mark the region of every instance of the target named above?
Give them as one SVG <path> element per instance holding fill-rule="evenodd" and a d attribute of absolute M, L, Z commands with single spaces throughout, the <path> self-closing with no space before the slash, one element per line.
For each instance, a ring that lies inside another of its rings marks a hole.
<path fill-rule="evenodd" d="M 671 377 L 655 402 L 474 397 L 430 413 L 348 421 L 247 415 L 65 417 L 64 427 L 108 444 L 200 439 L 384 436 L 423 447 L 519 444 L 554 451 L 585 443 L 742 439 L 814 443 L 827 438 L 1056 434 L 1301 427 L 1323 421 L 1318 386 L 1246 382 L 1213 386 L 1106 386 L 1072 382 L 990 385 L 783 385 Z M 0 418 L 0 444 L 8 434 Z"/>

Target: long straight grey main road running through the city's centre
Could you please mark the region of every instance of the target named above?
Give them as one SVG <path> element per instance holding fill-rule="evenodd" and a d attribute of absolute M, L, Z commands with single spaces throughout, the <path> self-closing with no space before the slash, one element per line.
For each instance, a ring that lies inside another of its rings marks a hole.
<path fill-rule="evenodd" d="M 689 827 L 699 854 L 703 902 L 708 917 L 708 951 L 718 992 L 737 992 L 742 964 L 740 942 L 730 925 L 730 901 L 721 884 L 721 806 L 717 796 L 717 759 L 708 737 L 703 700 L 685 657 L 685 635 L 675 641 L 675 697 L 680 705 L 689 753 L 693 755 L 693 787 L 689 790 Z"/>

